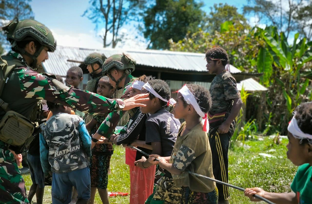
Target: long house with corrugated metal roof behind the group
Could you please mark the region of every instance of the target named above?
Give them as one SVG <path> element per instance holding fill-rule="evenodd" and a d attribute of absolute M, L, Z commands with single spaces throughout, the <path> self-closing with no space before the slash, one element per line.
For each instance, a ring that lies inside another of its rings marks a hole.
<path fill-rule="evenodd" d="M 43 67 L 47 73 L 65 77 L 70 67 L 79 66 L 85 60 L 85 57 L 93 52 L 104 54 L 106 58 L 113 54 L 129 54 L 137 63 L 132 74 L 134 77 L 145 74 L 165 80 L 173 92 L 173 97 L 175 97 L 174 92 L 185 83 L 197 83 L 209 89 L 210 83 L 215 76 L 214 74 L 209 74 L 206 70 L 204 53 L 163 50 L 86 49 L 57 46 L 54 52 L 49 52 L 49 59 L 43 62 Z M 248 92 L 264 92 L 267 90 L 266 87 L 252 79 L 252 77 L 259 77 L 261 74 L 241 72 L 232 65 L 227 65 L 226 68 L 235 77 L 237 88 L 240 91 L 242 86 Z M 84 73 L 87 73 L 87 71 L 84 70 Z M 81 89 L 85 88 L 89 79 L 90 75 L 85 74 Z M 118 96 L 119 93 L 114 97 Z"/>

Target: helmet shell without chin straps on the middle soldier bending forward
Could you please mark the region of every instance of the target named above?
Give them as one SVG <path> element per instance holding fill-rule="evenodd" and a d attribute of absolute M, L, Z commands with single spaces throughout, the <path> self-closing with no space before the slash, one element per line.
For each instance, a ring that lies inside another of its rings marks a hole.
<path fill-rule="evenodd" d="M 135 61 L 127 54 L 115 54 L 108 57 L 103 66 L 102 74 L 105 75 L 110 69 L 117 68 L 118 70 L 126 70 L 126 72 L 133 72 L 135 69 Z"/>

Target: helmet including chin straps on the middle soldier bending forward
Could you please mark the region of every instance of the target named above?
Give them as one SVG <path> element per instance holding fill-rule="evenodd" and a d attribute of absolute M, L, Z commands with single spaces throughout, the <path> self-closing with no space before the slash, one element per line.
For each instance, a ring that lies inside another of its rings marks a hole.
<path fill-rule="evenodd" d="M 115 83 L 116 83 L 116 89 L 119 90 L 121 87 L 118 87 L 119 82 L 126 76 L 128 76 L 131 72 L 134 71 L 135 67 L 135 61 L 126 54 L 115 54 L 110 57 L 108 57 L 102 67 L 102 74 L 103 75 L 108 75 Z M 111 74 L 110 70 L 112 68 L 117 68 L 118 70 L 125 71 L 124 74 L 116 80 Z"/>

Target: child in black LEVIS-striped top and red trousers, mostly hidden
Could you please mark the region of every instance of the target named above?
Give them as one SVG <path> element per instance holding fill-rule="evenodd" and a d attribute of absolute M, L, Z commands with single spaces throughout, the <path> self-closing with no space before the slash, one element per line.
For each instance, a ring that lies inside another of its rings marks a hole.
<path fill-rule="evenodd" d="M 152 76 L 141 76 L 131 85 L 129 97 L 134 97 L 141 93 L 141 89 L 146 82 L 152 80 Z M 114 139 L 115 145 L 123 144 L 125 147 L 138 140 L 137 142 L 145 141 L 146 126 L 145 122 L 149 114 L 142 113 L 139 108 L 135 108 L 135 113 L 130 117 L 129 122 L 119 131 L 116 131 L 117 137 Z M 152 152 L 144 147 L 138 147 L 143 152 Z M 136 204 L 144 204 L 146 199 L 153 193 L 155 166 L 141 169 L 134 166 L 136 160 L 144 156 L 142 153 L 134 149 L 126 147 L 126 164 L 130 169 L 130 202 Z"/>

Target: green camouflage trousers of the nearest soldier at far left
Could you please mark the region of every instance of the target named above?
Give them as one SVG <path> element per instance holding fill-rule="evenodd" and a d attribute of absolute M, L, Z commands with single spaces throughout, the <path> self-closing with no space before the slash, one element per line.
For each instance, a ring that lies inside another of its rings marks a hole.
<path fill-rule="evenodd" d="M 0 203 L 26 204 L 25 181 L 10 150 L 0 147 Z"/>

